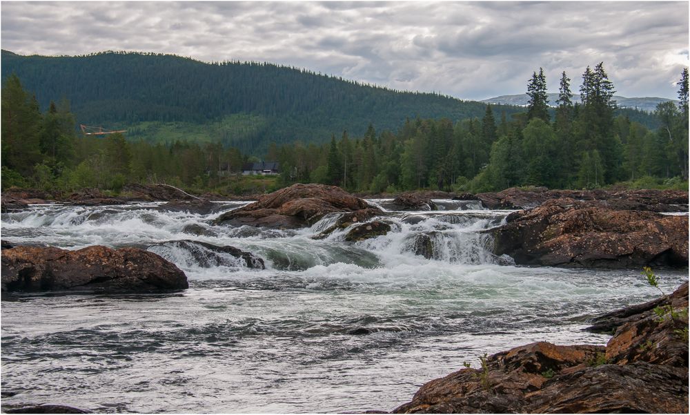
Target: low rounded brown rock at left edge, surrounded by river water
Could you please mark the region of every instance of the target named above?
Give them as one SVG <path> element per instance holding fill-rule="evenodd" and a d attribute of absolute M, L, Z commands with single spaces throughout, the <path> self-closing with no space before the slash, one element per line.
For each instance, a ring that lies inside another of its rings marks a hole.
<path fill-rule="evenodd" d="M 135 248 L 54 247 L 2 250 L 2 291 L 186 289 L 187 278 L 152 252 Z"/>

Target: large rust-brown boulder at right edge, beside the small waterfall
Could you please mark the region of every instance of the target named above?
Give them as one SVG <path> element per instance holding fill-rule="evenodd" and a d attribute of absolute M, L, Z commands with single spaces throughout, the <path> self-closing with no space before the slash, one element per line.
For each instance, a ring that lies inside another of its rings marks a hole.
<path fill-rule="evenodd" d="M 621 211 L 570 198 L 512 213 L 490 231 L 495 253 L 554 267 L 687 267 L 688 217 Z"/>

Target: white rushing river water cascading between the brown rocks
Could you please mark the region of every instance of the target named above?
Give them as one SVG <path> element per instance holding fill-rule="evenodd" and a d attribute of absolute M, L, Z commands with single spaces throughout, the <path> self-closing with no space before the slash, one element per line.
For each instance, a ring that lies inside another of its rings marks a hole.
<path fill-rule="evenodd" d="M 373 200 L 382 208 L 390 201 Z M 166 294 L 14 294 L 2 302 L 3 405 L 61 403 L 97 412 L 390 410 L 428 380 L 474 367 L 485 352 L 546 340 L 603 345 L 595 314 L 655 298 L 640 270 L 515 267 L 480 231 L 509 211 L 437 201 L 395 212 L 393 231 L 213 226 L 161 204 L 34 205 L 2 214 L 2 238 L 79 249 L 141 247 L 184 270 Z M 424 235 L 426 239 L 420 239 Z M 193 242 L 175 242 L 187 240 Z M 430 259 L 419 253 L 431 243 Z M 266 261 L 248 269 L 194 241 Z M 687 271 L 658 270 L 669 292 Z"/>

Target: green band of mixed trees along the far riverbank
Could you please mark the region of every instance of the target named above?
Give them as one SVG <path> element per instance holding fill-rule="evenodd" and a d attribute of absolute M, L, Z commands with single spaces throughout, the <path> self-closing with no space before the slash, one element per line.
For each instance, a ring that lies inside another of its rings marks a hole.
<path fill-rule="evenodd" d="M 395 131 L 318 142 L 270 143 L 264 160 L 280 163 L 276 186 L 317 182 L 348 191 L 413 189 L 495 191 L 511 186 L 593 189 L 618 182 L 663 180 L 687 188 L 688 73 L 678 82 L 680 104 L 665 102 L 650 129 L 615 113 L 614 86 L 602 63 L 582 75 L 582 102 L 573 104 L 562 73 L 550 105 L 543 70 L 527 84 L 520 113 L 484 106 L 482 117 L 406 118 Z M 324 142 L 325 141 L 325 142 Z M 167 182 L 187 189 L 228 191 L 227 178 L 257 160 L 223 142 L 128 141 L 123 135 L 77 135 L 66 100 L 41 113 L 16 75 L 2 90 L 2 186 L 118 191 L 127 182 Z"/>

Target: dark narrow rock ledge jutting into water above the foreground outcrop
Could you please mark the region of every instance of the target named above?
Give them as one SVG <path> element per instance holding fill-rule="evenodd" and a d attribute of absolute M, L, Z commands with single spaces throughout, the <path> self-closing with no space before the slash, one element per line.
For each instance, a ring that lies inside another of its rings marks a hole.
<path fill-rule="evenodd" d="M 613 333 L 618 327 L 628 322 L 635 322 L 654 315 L 653 309 L 666 305 L 672 305 L 674 308 L 688 307 L 687 282 L 678 287 L 670 296 L 657 298 L 643 304 L 632 305 L 595 317 L 591 321 L 591 327 L 587 327 L 586 330 L 593 331 L 594 333 Z"/>

